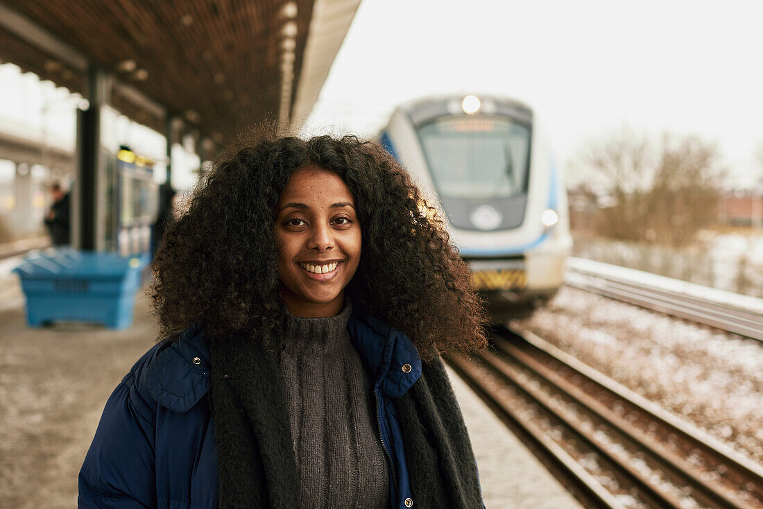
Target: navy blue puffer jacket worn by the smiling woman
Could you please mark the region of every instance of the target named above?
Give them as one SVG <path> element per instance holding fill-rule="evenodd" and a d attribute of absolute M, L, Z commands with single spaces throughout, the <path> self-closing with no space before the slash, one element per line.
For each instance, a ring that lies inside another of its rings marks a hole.
<path fill-rule="evenodd" d="M 374 317 L 353 314 L 348 329 L 376 375 L 380 439 L 398 478 L 397 487 L 390 483 L 391 507 L 405 509 L 412 495 L 392 400 L 419 379 L 421 360 L 407 336 Z M 209 377 L 209 352 L 195 327 L 141 357 L 106 403 L 79 473 L 79 507 L 217 507 Z"/>

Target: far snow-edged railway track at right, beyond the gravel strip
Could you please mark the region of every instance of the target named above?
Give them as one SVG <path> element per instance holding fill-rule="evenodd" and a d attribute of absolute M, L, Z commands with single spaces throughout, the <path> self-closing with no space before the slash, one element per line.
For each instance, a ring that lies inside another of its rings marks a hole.
<path fill-rule="evenodd" d="M 572 258 L 565 285 L 763 341 L 763 300 L 644 274 Z"/>

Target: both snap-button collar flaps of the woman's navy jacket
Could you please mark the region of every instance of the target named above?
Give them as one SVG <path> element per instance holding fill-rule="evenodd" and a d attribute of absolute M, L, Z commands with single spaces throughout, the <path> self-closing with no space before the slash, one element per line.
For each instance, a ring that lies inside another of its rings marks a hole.
<path fill-rule="evenodd" d="M 401 398 L 419 379 L 421 358 L 404 333 L 378 318 L 354 312 L 347 329 L 365 366 L 375 375 L 375 390 Z M 203 330 L 193 324 L 159 351 L 142 378 L 158 404 L 185 412 L 209 390 L 210 367 Z"/>

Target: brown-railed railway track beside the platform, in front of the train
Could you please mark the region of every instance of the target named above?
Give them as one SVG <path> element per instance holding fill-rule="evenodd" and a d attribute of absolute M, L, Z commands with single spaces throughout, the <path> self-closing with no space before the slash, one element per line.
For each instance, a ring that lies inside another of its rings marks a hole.
<path fill-rule="evenodd" d="M 524 332 L 449 364 L 584 507 L 763 508 L 763 467 Z"/>

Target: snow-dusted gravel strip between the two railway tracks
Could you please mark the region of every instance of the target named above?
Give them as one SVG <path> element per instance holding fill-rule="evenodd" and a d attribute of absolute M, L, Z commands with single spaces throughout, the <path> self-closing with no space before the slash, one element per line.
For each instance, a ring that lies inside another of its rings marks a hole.
<path fill-rule="evenodd" d="M 763 343 L 569 287 L 517 324 L 763 462 Z"/>

